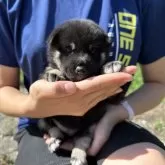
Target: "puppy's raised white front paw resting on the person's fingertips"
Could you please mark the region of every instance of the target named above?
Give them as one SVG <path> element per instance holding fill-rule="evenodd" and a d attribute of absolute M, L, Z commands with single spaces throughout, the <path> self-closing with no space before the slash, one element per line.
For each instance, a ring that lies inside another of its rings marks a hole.
<path fill-rule="evenodd" d="M 107 74 L 107 73 L 116 73 L 116 72 L 120 72 L 122 71 L 122 69 L 124 68 L 124 65 L 121 61 L 112 61 L 112 62 L 108 62 L 103 66 L 103 73 Z"/>

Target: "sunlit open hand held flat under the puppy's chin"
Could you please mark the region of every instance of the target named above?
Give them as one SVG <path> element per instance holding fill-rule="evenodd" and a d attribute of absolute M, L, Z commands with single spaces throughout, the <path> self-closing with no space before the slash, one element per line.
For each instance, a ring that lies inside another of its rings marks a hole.
<path fill-rule="evenodd" d="M 135 69 L 130 66 L 125 73 L 104 74 L 79 82 L 38 80 L 31 85 L 25 101 L 26 114 L 34 118 L 82 116 L 98 102 L 120 92 L 120 86 L 132 80 Z"/>

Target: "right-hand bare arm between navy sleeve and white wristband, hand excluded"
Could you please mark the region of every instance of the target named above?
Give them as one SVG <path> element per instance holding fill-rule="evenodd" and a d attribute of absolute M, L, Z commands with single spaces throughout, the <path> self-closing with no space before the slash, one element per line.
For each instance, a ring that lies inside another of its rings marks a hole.
<path fill-rule="evenodd" d="M 144 85 L 126 98 L 136 115 L 153 109 L 165 98 L 165 57 L 141 68 Z"/>

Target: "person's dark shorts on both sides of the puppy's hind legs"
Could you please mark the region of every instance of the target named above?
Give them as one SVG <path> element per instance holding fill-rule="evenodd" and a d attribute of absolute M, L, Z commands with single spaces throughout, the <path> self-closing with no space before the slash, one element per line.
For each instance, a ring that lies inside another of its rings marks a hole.
<path fill-rule="evenodd" d="M 16 165 L 69 165 L 70 152 L 59 150 L 55 154 L 49 153 L 37 128 L 28 127 L 16 137 L 20 140 Z M 131 122 L 122 122 L 116 125 L 100 153 L 95 158 L 88 157 L 89 164 L 101 165 L 105 158 L 118 149 L 140 142 L 150 142 L 165 149 L 164 145 L 144 128 Z"/>

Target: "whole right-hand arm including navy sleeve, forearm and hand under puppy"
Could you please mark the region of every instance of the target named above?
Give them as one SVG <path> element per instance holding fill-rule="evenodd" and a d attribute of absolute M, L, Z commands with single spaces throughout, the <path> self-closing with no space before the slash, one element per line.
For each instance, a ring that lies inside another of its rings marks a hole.
<path fill-rule="evenodd" d="M 162 21 L 165 16 L 165 1 L 146 0 L 141 2 L 142 17 L 139 21 L 141 22 L 142 44 L 137 62 L 141 64 L 144 84 L 126 97 L 135 115 L 154 108 L 165 97 L 165 22 Z M 96 154 L 109 137 L 113 127 L 126 118 L 128 118 L 128 113 L 122 105 L 111 106 L 109 123 L 106 122 L 105 116 L 98 124 L 90 153 Z M 104 128 L 104 132 L 100 132 L 102 128 Z"/>

